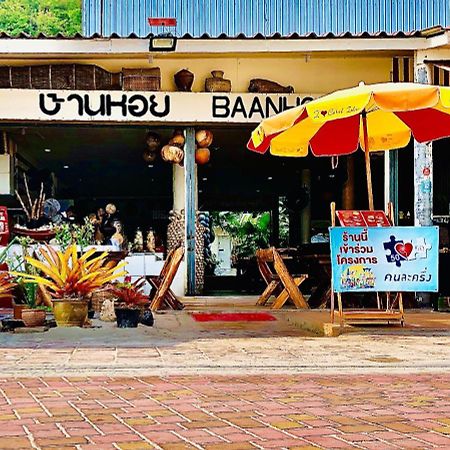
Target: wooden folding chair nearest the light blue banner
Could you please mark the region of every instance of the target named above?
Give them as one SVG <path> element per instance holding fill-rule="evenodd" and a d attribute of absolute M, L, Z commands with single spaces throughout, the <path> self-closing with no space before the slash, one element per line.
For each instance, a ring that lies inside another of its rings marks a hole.
<path fill-rule="evenodd" d="M 266 305 L 270 296 L 275 295 L 276 299 L 271 305 L 272 309 L 280 309 L 288 299 L 297 308 L 309 308 L 308 302 L 299 289 L 308 275 L 302 274 L 292 277 L 275 247 L 258 250 L 256 259 L 261 276 L 267 283 L 266 289 L 256 302 L 257 306 Z M 275 273 L 270 269 L 269 263 L 273 264 Z"/>

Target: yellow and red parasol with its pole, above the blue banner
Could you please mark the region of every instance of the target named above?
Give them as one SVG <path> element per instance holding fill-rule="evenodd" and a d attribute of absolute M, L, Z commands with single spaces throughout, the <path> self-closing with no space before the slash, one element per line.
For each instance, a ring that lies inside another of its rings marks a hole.
<path fill-rule="evenodd" d="M 450 136 L 450 88 L 382 83 L 336 91 L 263 120 L 247 147 L 277 156 L 366 153 L 369 208 L 373 209 L 370 151 Z"/>

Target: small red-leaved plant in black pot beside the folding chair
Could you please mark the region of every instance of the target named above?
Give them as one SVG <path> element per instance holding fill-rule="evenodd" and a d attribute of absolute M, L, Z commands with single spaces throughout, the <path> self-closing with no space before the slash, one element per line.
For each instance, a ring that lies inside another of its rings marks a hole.
<path fill-rule="evenodd" d="M 114 283 L 109 291 L 114 295 L 115 313 L 119 328 L 136 328 L 142 309 L 149 304 L 148 296 L 144 294 L 145 280 L 138 279 L 134 283 L 129 278 L 123 283 Z M 146 311 L 148 315 L 148 312 Z"/>

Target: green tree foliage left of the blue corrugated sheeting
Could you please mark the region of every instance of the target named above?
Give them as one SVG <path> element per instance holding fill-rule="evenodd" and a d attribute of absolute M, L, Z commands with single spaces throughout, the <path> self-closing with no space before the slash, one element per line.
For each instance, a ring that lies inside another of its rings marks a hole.
<path fill-rule="evenodd" d="M 0 32 L 36 36 L 81 32 L 81 0 L 0 0 Z"/>

